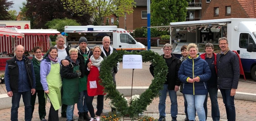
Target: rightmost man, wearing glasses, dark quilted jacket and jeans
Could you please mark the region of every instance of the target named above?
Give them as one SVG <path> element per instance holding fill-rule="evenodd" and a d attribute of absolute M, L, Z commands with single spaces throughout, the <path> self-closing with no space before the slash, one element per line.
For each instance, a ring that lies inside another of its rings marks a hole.
<path fill-rule="evenodd" d="M 235 121 L 234 97 L 240 76 L 239 59 L 237 54 L 229 50 L 227 38 L 220 38 L 219 46 L 221 51 L 216 56 L 217 85 L 225 104 L 227 119 Z"/>

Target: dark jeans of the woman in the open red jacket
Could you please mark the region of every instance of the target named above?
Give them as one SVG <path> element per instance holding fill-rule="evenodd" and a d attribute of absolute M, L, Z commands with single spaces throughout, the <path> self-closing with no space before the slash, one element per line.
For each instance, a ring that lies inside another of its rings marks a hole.
<path fill-rule="evenodd" d="M 218 88 L 208 88 L 208 92 L 211 99 L 211 117 L 213 121 L 220 120 L 220 110 L 218 105 Z M 207 119 L 207 100 L 208 93 L 205 96 L 204 109 L 205 109 L 205 117 Z"/>

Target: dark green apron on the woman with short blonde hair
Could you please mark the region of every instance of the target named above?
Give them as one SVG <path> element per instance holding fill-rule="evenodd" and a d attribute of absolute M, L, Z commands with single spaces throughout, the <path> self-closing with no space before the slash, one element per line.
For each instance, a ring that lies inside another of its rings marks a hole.
<path fill-rule="evenodd" d="M 73 66 L 73 73 L 77 73 L 79 70 L 79 66 Z M 67 79 L 62 79 L 62 103 L 66 105 L 73 105 L 78 102 L 78 94 L 79 89 L 77 88 L 79 85 L 78 77 Z"/>

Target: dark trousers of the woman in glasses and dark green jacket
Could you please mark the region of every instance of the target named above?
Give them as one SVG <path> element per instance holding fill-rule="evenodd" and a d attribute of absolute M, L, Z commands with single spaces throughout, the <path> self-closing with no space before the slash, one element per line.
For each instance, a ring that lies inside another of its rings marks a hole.
<path fill-rule="evenodd" d="M 31 96 L 31 106 L 32 106 L 31 116 L 33 116 L 33 112 L 35 109 L 36 94 L 38 97 L 38 114 L 39 114 L 40 120 L 42 120 L 46 116 L 44 90 L 36 90 L 36 93 Z"/>

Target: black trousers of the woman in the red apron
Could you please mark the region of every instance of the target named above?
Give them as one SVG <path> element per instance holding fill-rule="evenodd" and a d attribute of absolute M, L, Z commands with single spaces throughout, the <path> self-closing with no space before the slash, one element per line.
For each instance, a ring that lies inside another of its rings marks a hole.
<path fill-rule="evenodd" d="M 87 108 L 88 108 L 88 111 L 90 112 L 91 117 L 95 117 L 94 108 L 92 105 L 93 98 L 94 98 L 94 96 L 87 96 L 87 99 L 86 99 Z M 103 104 L 104 104 L 104 95 L 98 95 L 96 115 L 100 116 L 100 114 L 102 113 Z"/>

